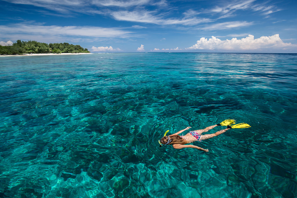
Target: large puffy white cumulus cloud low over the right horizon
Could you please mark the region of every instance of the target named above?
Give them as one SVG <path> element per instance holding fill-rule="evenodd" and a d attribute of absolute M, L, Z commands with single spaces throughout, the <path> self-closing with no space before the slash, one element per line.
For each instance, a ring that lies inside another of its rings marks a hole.
<path fill-rule="evenodd" d="M 259 50 L 259 49 L 279 49 L 285 47 L 294 47 L 291 43 L 284 43 L 279 34 L 272 36 L 263 36 L 254 39 L 254 36 L 249 34 L 246 38 L 231 40 L 221 40 L 216 37 L 206 39 L 200 38 L 195 45 L 188 47 L 188 50 L 207 49 L 207 50 Z"/>

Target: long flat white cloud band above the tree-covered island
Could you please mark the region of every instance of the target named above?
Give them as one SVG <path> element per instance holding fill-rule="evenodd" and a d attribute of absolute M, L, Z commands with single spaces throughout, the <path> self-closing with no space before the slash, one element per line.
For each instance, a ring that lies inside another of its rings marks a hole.
<path fill-rule="evenodd" d="M 127 38 L 131 37 L 130 31 L 120 28 L 102 28 L 96 26 L 45 26 L 42 24 L 17 23 L 0 25 L 1 36 L 10 37 L 13 34 L 36 35 L 40 37 L 93 37 L 93 38 Z M 17 38 L 19 39 L 19 38 Z"/>

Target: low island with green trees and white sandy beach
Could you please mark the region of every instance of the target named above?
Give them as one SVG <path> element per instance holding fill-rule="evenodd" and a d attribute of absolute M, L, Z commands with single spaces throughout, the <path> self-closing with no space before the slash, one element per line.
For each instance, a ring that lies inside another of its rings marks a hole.
<path fill-rule="evenodd" d="M 13 43 L 11 46 L 1 46 L 0 54 L 36 54 L 36 53 L 90 53 L 87 48 L 69 43 L 41 43 L 37 41 L 21 41 Z"/>

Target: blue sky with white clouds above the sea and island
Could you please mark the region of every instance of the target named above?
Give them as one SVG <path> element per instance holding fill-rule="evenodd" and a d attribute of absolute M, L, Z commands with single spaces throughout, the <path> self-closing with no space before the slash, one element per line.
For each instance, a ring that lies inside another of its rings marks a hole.
<path fill-rule="evenodd" d="M 297 1 L 0 0 L 0 45 L 100 52 L 297 53 Z"/>

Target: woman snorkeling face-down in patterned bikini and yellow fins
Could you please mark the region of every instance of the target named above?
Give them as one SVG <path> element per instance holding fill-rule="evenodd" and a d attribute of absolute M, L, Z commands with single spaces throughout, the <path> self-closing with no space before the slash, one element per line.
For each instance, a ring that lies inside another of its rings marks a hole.
<path fill-rule="evenodd" d="M 225 120 L 225 121 L 223 121 L 223 122 L 221 122 L 219 124 L 208 126 L 205 129 L 190 131 L 189 133 L 187 133 L 185 135 L 181 135 L 181 136 L 179 135 L 180 133 L 182 133 L 182 132 L 184 132 L 184 131 L 192 128 L 192 127 L 188 126 L 186 129 L 183 129 L 183 130 L 181 130 L 179 132 L 176 132 L 176 133 L 174 133 L 172 135 L 166 136 L 167 132 L 169 131 L 168 130 L 168 131 L 165 132 L 164 137 L 162 137 L 162 139 L 159 140 L 160 147 L 162 146 L 162 144 L 163 145 L 170 144 L 170 145 L 173 146 L 173 148 L 176 148 L 176 149 L 180 149 L 180 148 L 197 148 L 199 150 L 208 152 L 208 149 L 204 149 L 204 148 L 201 148 L 201 147 L 195 146 L 195 145 L 185 145 L 185 144 L 189 144 L 189 143 L 192 143 L 192 142 L 195 142 L 195 141 L 201 142 L 202 140 L 206 140 L 206 139 L 218 136 L 218 135 L 226 132 L 229 129 L 233 129 L 233 128 L 234 129 L 235 128 L 242 129 L 242 128 L 251 127 L 247 123 L 240 123 L 240 124 L 236 124 L 236 125 L 232 125 L 232 126 L 230 126 L 230 124 L 235 124 L 235 120 Z M 205 133 L 208 130 L 213 129 L 216 126 L 227 126 L 227 128 L 223 129 L 223 130 L 220 130 L 218 132 L 212 133 L 212 134 L 202 135 L 202 133 Z"/>

